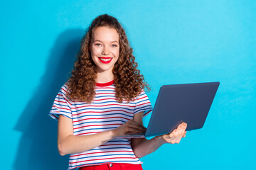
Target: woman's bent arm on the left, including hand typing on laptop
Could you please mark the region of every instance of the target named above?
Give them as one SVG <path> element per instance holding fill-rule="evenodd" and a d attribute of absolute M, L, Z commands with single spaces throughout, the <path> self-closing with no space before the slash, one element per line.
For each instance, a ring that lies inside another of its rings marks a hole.
<path fill-rule="evenodd" d="M 63 115 L 58 120 L 58 151 L 60 155 L 85 152 L 112 140 L 114 136 L 129 135 L 134 132 L 144 132 L 145 129 L 134 120 L 120 125 L 114 130 L 107 130 L 93 135 L 73 135 L 73 122 Z"/>

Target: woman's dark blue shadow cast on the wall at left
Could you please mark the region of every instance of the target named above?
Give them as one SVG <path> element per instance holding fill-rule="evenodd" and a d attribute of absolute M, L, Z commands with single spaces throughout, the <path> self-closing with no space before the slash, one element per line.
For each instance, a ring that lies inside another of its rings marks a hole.
<path fill-rule="evenodd" d="M 66 30 L 55 40 L 41 83 L 14 128 L 22 132 L 14 169 L 68 168 L 68 156 L 58 154 L 58 122 L 48 113 L 60 87 L 68 80 L 84 34 L 82 29 Z"/>

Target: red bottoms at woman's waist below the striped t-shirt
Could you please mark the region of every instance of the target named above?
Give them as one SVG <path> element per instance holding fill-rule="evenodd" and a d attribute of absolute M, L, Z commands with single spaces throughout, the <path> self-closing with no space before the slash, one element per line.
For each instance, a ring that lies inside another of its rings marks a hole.
<path fill-rule="evenodd" d="M 95 166 L 83 166 L 79 170 L 143 170 L 142 164 L 102 164 Z"/>

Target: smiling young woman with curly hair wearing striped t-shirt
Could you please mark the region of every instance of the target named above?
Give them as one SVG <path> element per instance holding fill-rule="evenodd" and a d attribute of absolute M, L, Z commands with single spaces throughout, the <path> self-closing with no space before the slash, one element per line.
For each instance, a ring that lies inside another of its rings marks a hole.
<path fill-rule="evenodd" d="M 142 118 L 152 111 L 134 59 L 116 18 L 105 14 L 92 21 L 73 75 L 50 111 L 58 120 L 58 150 L 70 154 L 69 169 L 142 169 L 140 157 L 186 136 L 182 123 L 151 140 L 112 138 L 145 132 Z"/>

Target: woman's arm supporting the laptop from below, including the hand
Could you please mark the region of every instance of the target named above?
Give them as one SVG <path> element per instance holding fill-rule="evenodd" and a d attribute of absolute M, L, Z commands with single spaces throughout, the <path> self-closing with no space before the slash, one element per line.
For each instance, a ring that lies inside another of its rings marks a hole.
<path fill-rule="evenodd" d="M 143 113 L 137 113 L 134 115 L 134 120 L 138 123 L 142 122 Z M 146 138 L 133 138 L 132 139 L 132 149 L 137 157 L 144 157 L 147 154 L 151 154 L 156 151 L 161 145 L 165 143 L 179 143 L 182 137 L 186 136 L 186 123 L 181 123 L 178 128 L 167 135 L 156 136 L 151 140 L 146 140 Z"/>

